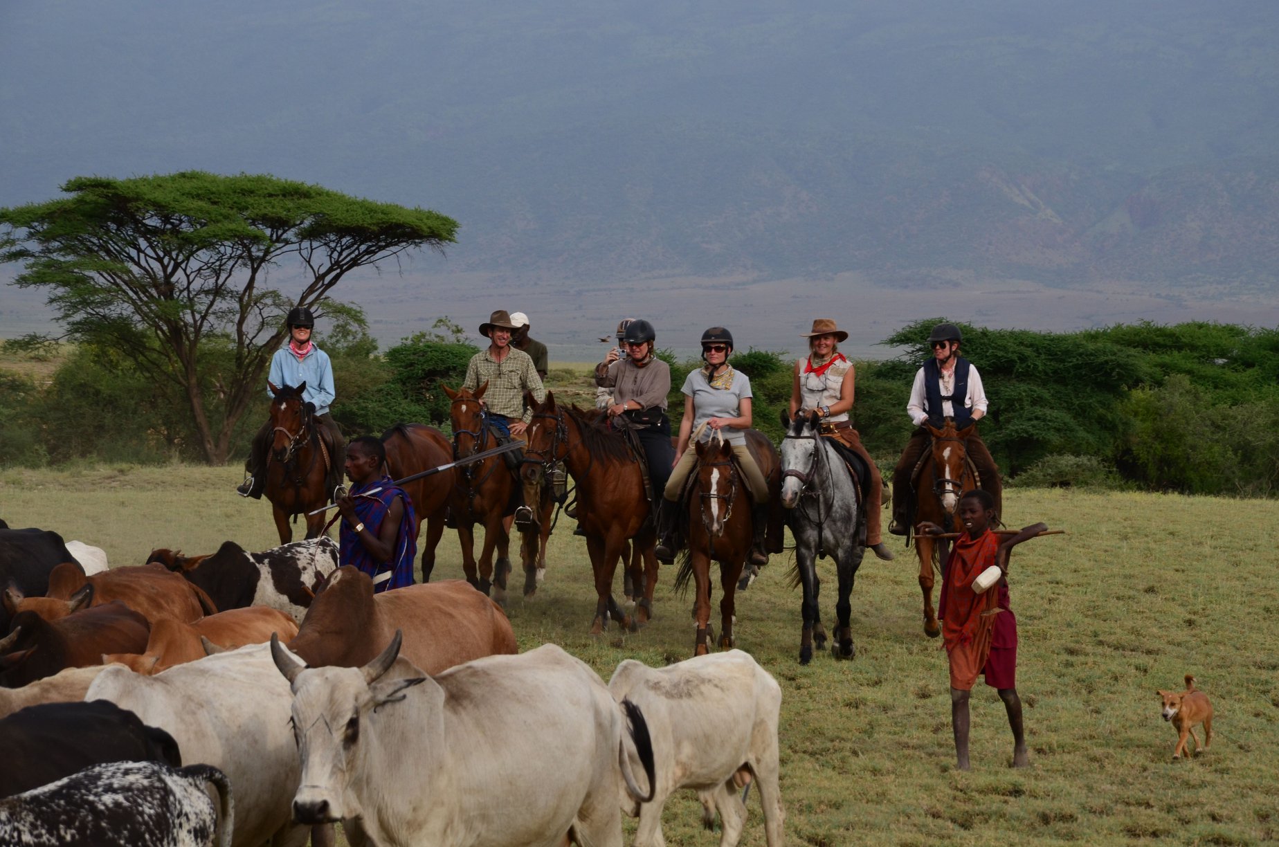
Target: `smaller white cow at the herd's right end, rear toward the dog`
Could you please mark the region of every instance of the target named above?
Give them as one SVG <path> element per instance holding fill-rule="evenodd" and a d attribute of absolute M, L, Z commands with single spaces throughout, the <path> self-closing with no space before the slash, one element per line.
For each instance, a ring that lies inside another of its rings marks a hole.
<path fill-rule="evenodd" d="M 749 654 L 729 650 L 650 668 L 627 659 L 613 672 L 609 691 L 640 706 L 648 723 L 657 769 L 654 798 L 640 806 L 622 795 L 622 807 L 640 816 L 636 847 L 665 844 L 661 807 L 678 788 L 702 801 L 702 823 L 723 820 L 720 847 L 742 837 L 746 805 L 737 789 L 753 778 L 764 806 L 769 847 L 783 842 L 778 787 L 778 715 L 781 687 Z"/>

